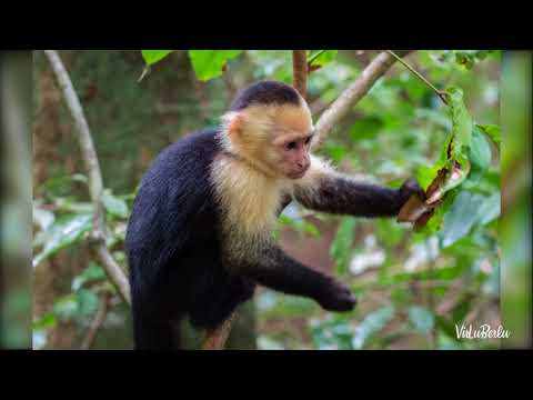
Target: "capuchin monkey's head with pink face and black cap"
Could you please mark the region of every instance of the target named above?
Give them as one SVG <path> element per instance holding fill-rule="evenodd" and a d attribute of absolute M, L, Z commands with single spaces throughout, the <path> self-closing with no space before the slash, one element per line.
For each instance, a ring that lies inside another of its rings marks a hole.
<path fill-rule="evenodd" d="M 225 148 L 265 174 L 300 179 L 308 171 L 313 122 L 292 87 L 254 83 L 239 94 L 223 121 Z"/>

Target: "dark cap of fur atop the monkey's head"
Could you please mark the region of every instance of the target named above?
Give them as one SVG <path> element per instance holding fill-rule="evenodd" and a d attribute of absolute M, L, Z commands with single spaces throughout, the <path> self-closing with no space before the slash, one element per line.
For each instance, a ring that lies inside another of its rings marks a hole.
<path fill-rule="evenodd" d="M 231 104 L 231 111 L 240 111 L 252 104 L 300 104 L 300 96 L 289 84 L 260 81 L 242 90 Z"/>

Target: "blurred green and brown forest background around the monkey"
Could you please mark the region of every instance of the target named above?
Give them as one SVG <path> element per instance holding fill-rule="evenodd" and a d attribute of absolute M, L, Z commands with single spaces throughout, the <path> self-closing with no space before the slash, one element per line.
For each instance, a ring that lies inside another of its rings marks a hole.
<path fill-rule="evenodd" d="M 466 56 L 464 54 L 466 53 Z M 292 83 L 291 51 L 249 50 L 221 77 L 202 82 L 187 51 L 174 51 L 141 81 L 140 50 L 59 51 L 93 134 L 104 187 L 109 248 L 127 269 L 123 238 L 137 184 L 153 158 L 191 131 L 218 124 L 235 92 L 260 79 Z M 313 117 L 378 51 L 339 50 L 313 71 Z M 91 226 L 87 177 L 72 117 L 41 51 L 33 69 L 33 348 L 131 349 L 129 307 L 105 279 L 84 236 Z M 473 119 L 500 124 L 501 52 L 414 51 L 405 60 L 440 89 L 464 91 Z M 450 109 L 395 63 L 328 137 L 320 153 L 339 169 L 399 186 L 439 158 Z M 499 340 L 457 340 L 455 324 L 500 317 L 500 153 L 449 204 L 439 231 L 406 223 L 325 216 L 291 204 L 278 238 L 292 256 L 351 286 L 350 313 L 261 288 L 245 304 L 230 349 L 476 349 Z M 183 327 L 194 348 L 200 332 Z"/>

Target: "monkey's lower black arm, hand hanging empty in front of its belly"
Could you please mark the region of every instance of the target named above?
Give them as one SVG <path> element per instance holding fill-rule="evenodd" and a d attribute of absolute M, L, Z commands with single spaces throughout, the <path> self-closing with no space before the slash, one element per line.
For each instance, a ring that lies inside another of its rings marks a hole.
<path fill-rule="evenodd" d="M 350 289 L 333 278 L 303 266 L 273 243 L 249 260 L 232 260 L 240 274 L 276 291 L 314 299 L 326 310 L 348 311 L 355 299 Z"/>

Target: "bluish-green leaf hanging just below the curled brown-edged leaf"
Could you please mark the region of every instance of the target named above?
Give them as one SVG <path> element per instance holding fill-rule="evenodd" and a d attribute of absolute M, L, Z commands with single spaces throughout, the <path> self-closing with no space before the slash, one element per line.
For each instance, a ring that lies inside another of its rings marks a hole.
<path fill-rule="evenodd" d="M 482 202 L 482 196 L 473 194 L 467 190 L 461 191 L 455 197 L 450 211 L 444 216 L 443 228 L 440 232 L 443 248 L 452 246 L 469 234 L 477 221 L 477 212 Z"/>

